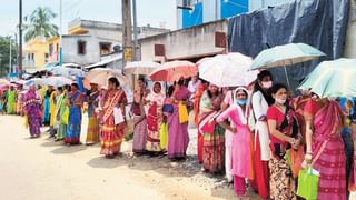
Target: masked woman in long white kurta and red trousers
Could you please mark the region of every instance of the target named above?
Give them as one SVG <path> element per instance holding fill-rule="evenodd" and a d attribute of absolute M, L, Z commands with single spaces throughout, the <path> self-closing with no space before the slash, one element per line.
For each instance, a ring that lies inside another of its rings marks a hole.
<path fill-rule="evenodd" d="M 271 73 L 261 71 L 257 76 L 253 94 L 253 110 L 256 119 L 255 126 L 255 169 L 256 187 L 258 194 L 267 199 L 269 196 L 269 133 L 267 127 L 267 109 L 274 100 L 268 89 L 273 86 Z"/>

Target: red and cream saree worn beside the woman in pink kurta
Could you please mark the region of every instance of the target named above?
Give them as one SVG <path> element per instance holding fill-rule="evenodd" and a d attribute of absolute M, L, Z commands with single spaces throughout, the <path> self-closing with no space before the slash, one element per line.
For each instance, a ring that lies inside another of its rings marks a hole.
<path fill-rule="evenodd" d="M 221 96 L 210 99 L 206 91 L 201 97 L 200 111 L 202 114 L 215 114 L 217 113 L 217 111 L 215 111 L 217 110 L 216 108 L 218 108 L 221 102 Z M 208 120 L 210 121 L 212 119 Z M 199 127 L 201 127 L 201 124 L 199 124 Z M 216 123 L 212 127 L 212 131 L 207 132 L 202 130 L 202 167 L 210 173 L 222 172 L 225 170 L 225 129 Z"/>

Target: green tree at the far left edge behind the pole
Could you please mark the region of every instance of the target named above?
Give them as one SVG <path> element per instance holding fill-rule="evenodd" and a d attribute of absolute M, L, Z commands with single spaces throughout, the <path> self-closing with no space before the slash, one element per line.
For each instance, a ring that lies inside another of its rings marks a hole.
<path fill-rule="evenodd" d="M 10 42 L 11 42 L 11 61 L 16 64 L 17 49 L 14 41 L 10 37 L 0 37 L 0 77 L 6 77 L 9 72 L 9 57 L 10 57 Z"/>

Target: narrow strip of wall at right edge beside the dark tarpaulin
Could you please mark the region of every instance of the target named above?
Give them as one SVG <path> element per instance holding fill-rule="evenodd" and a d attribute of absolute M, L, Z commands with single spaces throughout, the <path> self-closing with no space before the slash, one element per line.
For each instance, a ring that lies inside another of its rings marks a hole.
<path fill-rule="evenodd" d="M 356 0 L 350 1 L 344 57 L 356 58 Z"/>

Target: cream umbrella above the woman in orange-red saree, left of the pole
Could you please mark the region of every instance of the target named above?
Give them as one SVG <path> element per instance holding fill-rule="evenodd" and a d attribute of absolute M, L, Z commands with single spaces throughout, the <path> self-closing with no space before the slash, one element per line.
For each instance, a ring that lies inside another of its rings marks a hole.
<path fill-rule="evenodd" d="M 96 68 L 86 74 L 89 82 L 100 86 L 107 86 L 108 79 L 111 77 L 116 77 L 121 86 L 128 83 L 127 78 L 121 73 L 121 71 L 109 68 Z"/>

